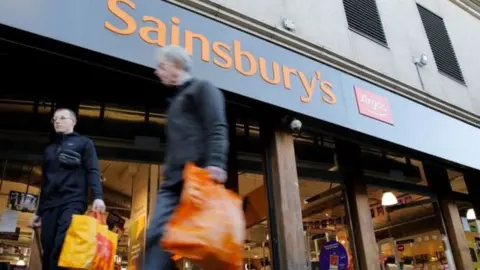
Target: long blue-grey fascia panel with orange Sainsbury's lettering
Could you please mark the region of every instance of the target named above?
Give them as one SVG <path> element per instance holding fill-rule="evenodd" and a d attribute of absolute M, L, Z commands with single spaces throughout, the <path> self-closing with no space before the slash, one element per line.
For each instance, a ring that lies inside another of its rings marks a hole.
<path fill-rule="evenodd" d="M 179 44 L 222 89 L 480 169 L 479 129 L 165 1 L 3 0 L 0 23 L 152 68 Z M 354 87 L 388 100 L 392 121 L 360 114 Z"/>

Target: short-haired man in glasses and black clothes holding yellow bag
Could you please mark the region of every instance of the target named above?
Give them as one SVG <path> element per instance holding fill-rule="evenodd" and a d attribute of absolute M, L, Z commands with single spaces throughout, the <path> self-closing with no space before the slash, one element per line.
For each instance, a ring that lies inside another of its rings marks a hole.
<path fill-rule="evenodd" d="M 44 153 L 40 203 L 32 220 L 32 227 L 42 228 L 44 270 L 60 269 L 58 258 L 72 216 L 87 210 L 88 187 L 93 209 L 105 211 L 95 146 L 73 131 L 76 122 L 73 111 L 57 109 L 52 118 L 57 137 Z"/>

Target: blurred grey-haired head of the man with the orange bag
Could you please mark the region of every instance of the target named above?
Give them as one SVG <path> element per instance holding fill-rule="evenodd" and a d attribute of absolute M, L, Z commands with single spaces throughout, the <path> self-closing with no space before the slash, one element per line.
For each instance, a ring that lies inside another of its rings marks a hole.
<path fill-rule="evenodd" d="M 166 46 L 158 49 L 155 55 L 155 75 L 167 86 L 178 85 L 182 78 L 190 75 L 193 68 L 192 58 L 182 47 Z"/>

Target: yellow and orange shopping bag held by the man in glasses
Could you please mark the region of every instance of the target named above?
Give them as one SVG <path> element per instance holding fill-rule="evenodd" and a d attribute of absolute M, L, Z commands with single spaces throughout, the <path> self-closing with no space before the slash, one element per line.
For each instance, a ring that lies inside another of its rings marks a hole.
<path fill-rule="evenodd" d="M 58 266 L 89 270 L 114 268 L 118 235 L 108 230 L 105 217 L 98 212 L 73 215 Z"/>

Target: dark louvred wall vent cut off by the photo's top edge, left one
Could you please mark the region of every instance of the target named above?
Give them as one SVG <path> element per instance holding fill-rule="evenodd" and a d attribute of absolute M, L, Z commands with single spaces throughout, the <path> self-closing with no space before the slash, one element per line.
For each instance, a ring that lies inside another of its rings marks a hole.
<path fill-rule="evenodd" d="M 348 27 L 387 45 L 376 0 L 343 0 Z"/>

